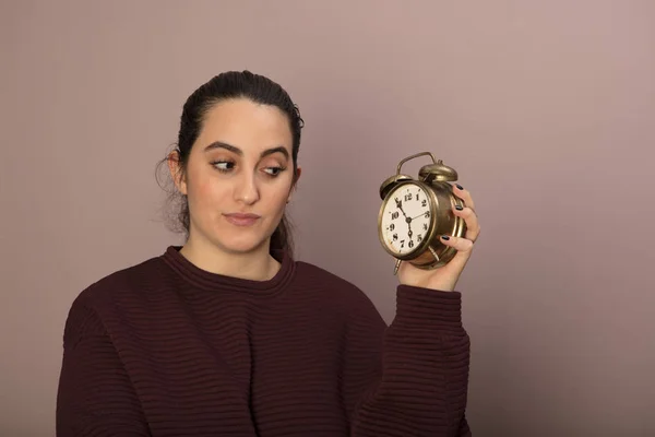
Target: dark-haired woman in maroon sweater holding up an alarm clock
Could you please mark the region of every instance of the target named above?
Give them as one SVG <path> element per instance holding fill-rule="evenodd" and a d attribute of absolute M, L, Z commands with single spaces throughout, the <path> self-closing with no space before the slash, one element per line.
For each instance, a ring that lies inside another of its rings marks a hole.
<path fill-rule="evenodd" d="M 187 101 L 167 157 L 181 247 L 72 304 L 57 435 L 467 436 L 469 342 L 455 284 L 479 234 L 467 190 L 456 257 L 402 263 L 385 326 L 367 296 L 295 261 L 285 208 L 302 119 L 287 93 L 226 72 Z"/>

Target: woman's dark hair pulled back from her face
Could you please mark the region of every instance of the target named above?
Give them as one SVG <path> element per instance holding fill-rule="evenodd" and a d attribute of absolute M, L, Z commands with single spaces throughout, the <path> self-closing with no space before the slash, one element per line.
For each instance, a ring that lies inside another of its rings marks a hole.
<path fill-rule="evenodd" d="M 212 78 L 195 90 L 182 109 L 180 130 L 176 152 L 179 155 L 180 170 L 184 172 L 191 153 L 191 147 L 200 134 L 206 113 L 218 102 L 233 98 L 248 98 L 254 103 L 276 106 L 289 119 L 293 135 L 291 157 L 294 162 L 294 184 L 298 169 L 298 150 L 300 149 L 300 130 L 305 122 L 300 117 L 298 106 L 294 104 L 288 93 L 271 79 L 250 71 L 227 71 Z M 168 157 L 160 164 L 166 163 Z M 189 238 L 190 214 L 187 197 L 177 189 L 169 192 L 169 201 L 175 205 L 176 224 L 174 231 L 183 232 Z M 271 250 L 286 250 L 293 256 L 293 236 L 290 222 L 283 215 L 277 228 L 271 236 Z"/>

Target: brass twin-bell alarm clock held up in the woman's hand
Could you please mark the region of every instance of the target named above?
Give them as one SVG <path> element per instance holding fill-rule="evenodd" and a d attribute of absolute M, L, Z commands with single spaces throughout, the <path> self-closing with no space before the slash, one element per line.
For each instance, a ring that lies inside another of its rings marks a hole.
<path fill-rule="evenodd" d="M 401 167 L 409 160 L 429 156 L 432 164 L 418 172 L 418 179 L 401 174 Z M 378 215 L 378 234 L 382 247 L 396 259 L 393 274 L 401 262 L 409 262 L 420 269 L 445 265 L 456 250 L 441 243 L 442 235 L 464 237 L 466 224 L 452 209 L 465 206 L 453 193 L 450 182 L 457 180 L 457 173 L 434 160 L 430 152 L 407 156 L 398 163 L 396 174 L 380 186 L 382 205 Z"/>

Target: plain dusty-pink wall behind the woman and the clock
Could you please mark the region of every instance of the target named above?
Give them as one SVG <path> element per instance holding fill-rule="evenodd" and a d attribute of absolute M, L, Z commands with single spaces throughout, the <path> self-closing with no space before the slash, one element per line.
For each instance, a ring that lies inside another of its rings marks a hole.
<path fill-rule="evenodd" d="M 653 23 L 648 0 L 2 1 L 0 435 L 53 435 L 70 304 L 180 243 L 156 163 L 187 96 L 243 69 L 306 121 L 297 258 L 385 320 L 382 180 L 430 151 L 472 191 L 475 436 L 655 435 Z"/>

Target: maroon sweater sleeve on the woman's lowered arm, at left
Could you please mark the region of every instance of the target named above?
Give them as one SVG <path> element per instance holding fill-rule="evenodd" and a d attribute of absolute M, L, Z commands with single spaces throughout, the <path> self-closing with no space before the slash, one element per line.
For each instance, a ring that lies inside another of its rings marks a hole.
<path fill-rule="evenodd" d="M 150 436 L 111 339 L 81 299 L 66 322 L 56 428 L 58 437 Z"/>

